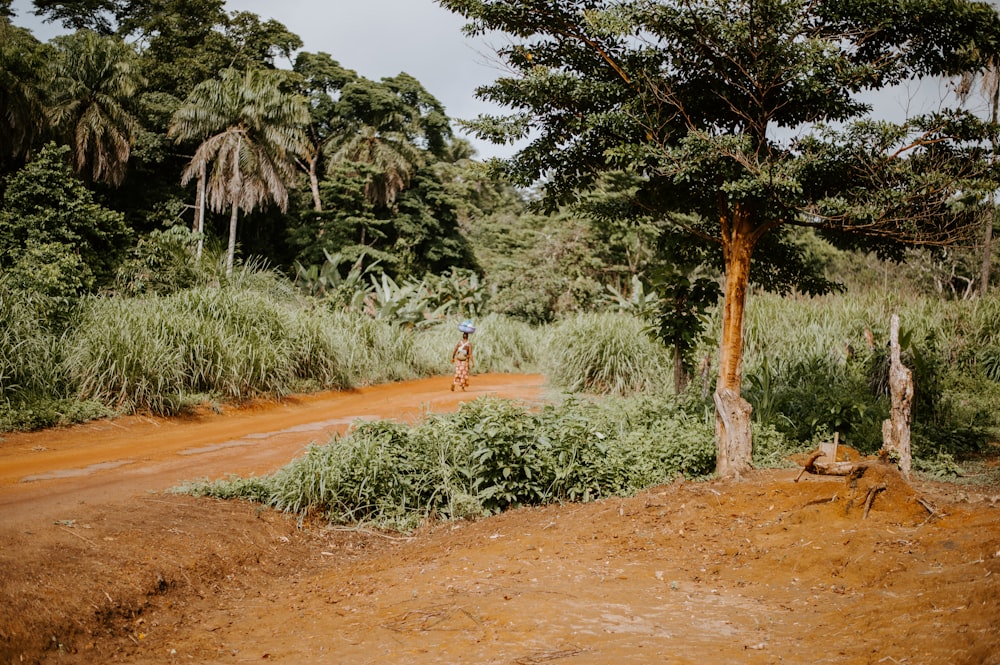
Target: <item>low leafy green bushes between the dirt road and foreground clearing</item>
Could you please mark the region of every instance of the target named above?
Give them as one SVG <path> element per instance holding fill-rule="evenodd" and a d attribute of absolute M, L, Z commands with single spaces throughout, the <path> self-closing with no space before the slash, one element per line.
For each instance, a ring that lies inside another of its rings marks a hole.
<path fill-rule="evenodd" d="M 409 529 L 432 515 L 460 519 L 631 494 L 714 467 L 711 426 L 667 400 L 571 398 L 532 410 L 483 397 L 414 426 L 359 424 L 263 478 L 177 491 Z"/>

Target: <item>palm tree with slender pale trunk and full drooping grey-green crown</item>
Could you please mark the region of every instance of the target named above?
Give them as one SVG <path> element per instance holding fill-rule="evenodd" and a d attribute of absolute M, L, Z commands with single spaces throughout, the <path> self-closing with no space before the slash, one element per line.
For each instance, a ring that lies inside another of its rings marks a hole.
<path fill-rule="evenodd" d="M 230 209 L 226 273 L 233 269 L 239 211 L 275 202 L 288 208 L 286 183 L 295 157 L 307 148 L 304 101 L 282 90 L 276 70 L 225 69 L 200 83 L 174 113 L 167 135 L 201 144 L 184 169 L 182 184 L 204 174 L 204 201 L 216 212 Z"/>

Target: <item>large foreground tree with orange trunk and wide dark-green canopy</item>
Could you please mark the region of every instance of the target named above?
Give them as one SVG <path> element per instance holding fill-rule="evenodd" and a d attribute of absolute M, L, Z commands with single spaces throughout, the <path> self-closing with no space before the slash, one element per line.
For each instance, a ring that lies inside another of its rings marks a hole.
<path fill-rule="evenodd" d="M 645 179 L 637 204 L 691 215 L 725 267 L 716 383 L 720 476 L 750 468 L 750 405 L 741 397 L 751 279 L 795 283 L 778 257 L 790 226 L 844 246 L 900 256 L 975 227 L 987 128 L 960 112 L 894 125 L 858 99 L 916 76 L 976 70 L 1000 44 L 984 3 L 911 0 L 439 0 L 514 43 L 515 76 L 480 97 L 515 113 L 471 127 L 528 138 L 503 165 L 516 182 L 544 177 L 550 206 L 609 169 Z M 963 198 L 963 195 L 965 198 Z M 764 261 L 752 261 L 754 257 Z M 756 275 L 754 267 L 756 266 Z"/>

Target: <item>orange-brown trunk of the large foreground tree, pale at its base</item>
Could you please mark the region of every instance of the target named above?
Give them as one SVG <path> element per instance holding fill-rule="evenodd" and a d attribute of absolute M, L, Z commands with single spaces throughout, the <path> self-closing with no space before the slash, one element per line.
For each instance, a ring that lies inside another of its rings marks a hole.
<path fill-rule="evenodd" d="M 753 440 L 750 403 L 740 396 L 743 384 L 743 318 L 750 283 L 750 257 L 755 237 L 749 216 L 737 209 L 723 217 L 722 253 L 726 262 L 726 293 L 719 344 L 719 379 L 715 388 L 715 436 L 720 478 L 739 478 L 750 470 Z"/>

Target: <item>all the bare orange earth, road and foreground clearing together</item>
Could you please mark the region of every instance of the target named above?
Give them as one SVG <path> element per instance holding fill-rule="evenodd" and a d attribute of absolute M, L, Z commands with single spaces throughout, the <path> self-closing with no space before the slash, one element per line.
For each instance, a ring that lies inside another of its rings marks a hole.
<path fill-rule="evenodd" d="M 543 389 L 448 383 L 5 437 L 0 664 L 1000 664 L 996 483 L 766 470 L 408 535 L 166 491 Z"/>

